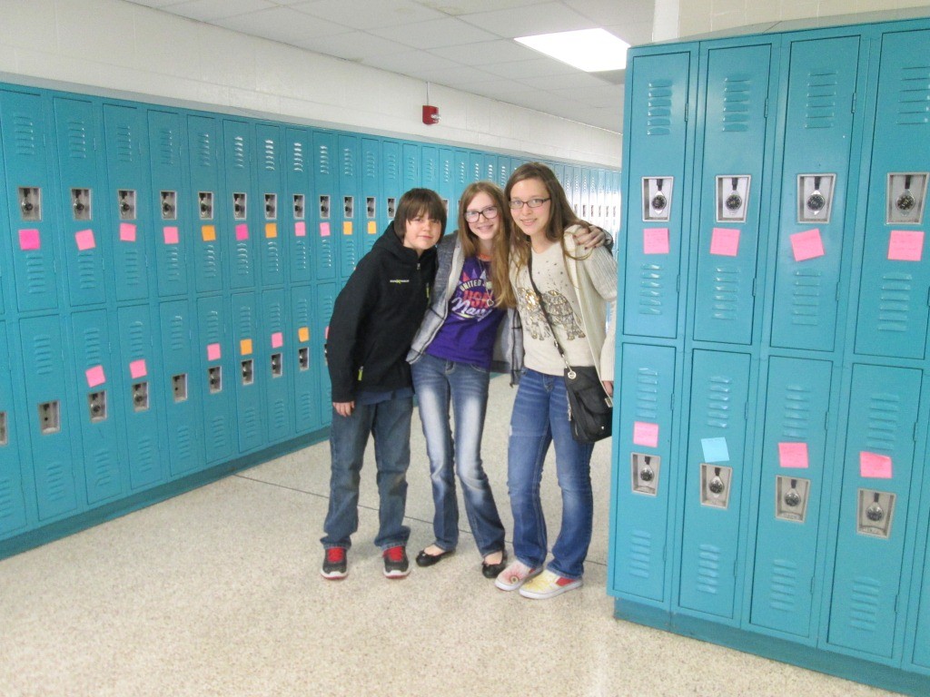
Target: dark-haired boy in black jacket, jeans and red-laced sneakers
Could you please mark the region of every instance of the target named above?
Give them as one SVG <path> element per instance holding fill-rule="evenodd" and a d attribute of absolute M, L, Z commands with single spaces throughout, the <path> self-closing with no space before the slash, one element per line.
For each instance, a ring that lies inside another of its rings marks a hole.
<path fill-rule="evenodd" d="M 339 292 L 329 323 L 332 467 L 324 523 L 324 578 L 344 578 L 358 529 L 358 489 L 368 434 L 375 437 L 379 533 L 384 575 L 409 573 L 404 525 L 410 465 L 413 383 L 406 353 L 429 305 L 436 274 L 433 247 L 445 232 L 445 206 L 435 191 L 411 189 L 394 221 L 362 257 Z"/>

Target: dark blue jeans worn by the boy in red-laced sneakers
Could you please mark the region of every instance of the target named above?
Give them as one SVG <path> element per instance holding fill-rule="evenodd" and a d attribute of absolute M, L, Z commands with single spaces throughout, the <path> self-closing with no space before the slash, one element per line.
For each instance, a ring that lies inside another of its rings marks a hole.
<path fill-rule="evenodd" d="M 329 511 L 320 540 L 323 546 L 352 546 L 358 530 L 358 487 L 368 434 L 375 437 L 378 466 L 379 531 L 375 544 L 381 549 L 406 545 L 410 528 L 404 525 L 406 470 L 410 466 L 410 421 L 413 398 L 356 403 L 350 416 L 333 410 L 329 431 L 332 465 L 329 476 Z"/>

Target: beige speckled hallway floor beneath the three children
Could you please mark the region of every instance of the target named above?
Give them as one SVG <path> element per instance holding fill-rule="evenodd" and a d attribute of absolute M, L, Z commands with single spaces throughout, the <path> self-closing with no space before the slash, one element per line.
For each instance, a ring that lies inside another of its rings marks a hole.
<path fill-rule="evenodd" d="M 492 382 L 485 433 L 485 467 L 508 530 L 512 398 L 505 380 Z M 437 566 L 385 579 L 371 543 L 378 516 L 368 466 L 349 577 L 323 580 L 326 443 L 6 559 L 0 695 L 889 694 L 613 619 L 604 592 L 609 445 L 594 453 L 585 585 L 548 601 L 494 588 L 469 533 Z M 432 542 L 416 419 L 412 462 L 415 554 Z M 543 495 L 554 531 L 551 465 Z"/>

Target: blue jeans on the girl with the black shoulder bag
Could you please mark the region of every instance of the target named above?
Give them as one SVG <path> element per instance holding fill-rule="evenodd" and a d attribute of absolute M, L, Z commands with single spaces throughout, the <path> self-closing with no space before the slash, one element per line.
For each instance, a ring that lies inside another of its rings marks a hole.
<path fill-rule="evenodd" d="M 507 486 L 513 509 L 513 551 L 526 566 L 546 560 L 546 519 L 539 500 L 542 465 L 555 442 L 555 469 L 562 490 L 562 529 L 552 547 L 549 570 L 565 578 L 584 574 L 591 545 L 594 497 L 591 493 L 591 443 L 572 438 L 565 378 L 526 370 L 511 416 Z"/>

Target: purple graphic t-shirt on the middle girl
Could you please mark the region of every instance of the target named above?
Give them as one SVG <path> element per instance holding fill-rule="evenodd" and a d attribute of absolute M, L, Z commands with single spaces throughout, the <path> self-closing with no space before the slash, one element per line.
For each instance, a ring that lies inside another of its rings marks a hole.
<path fill-rule="evenodd" d="M 494 307 L 490 272 L 490 261 L 477 256 L 465 259 L 445 322 L 426 349 L 431 356 L 490 369 L 498 324 L 504 317 L 504 311 Z"/>

